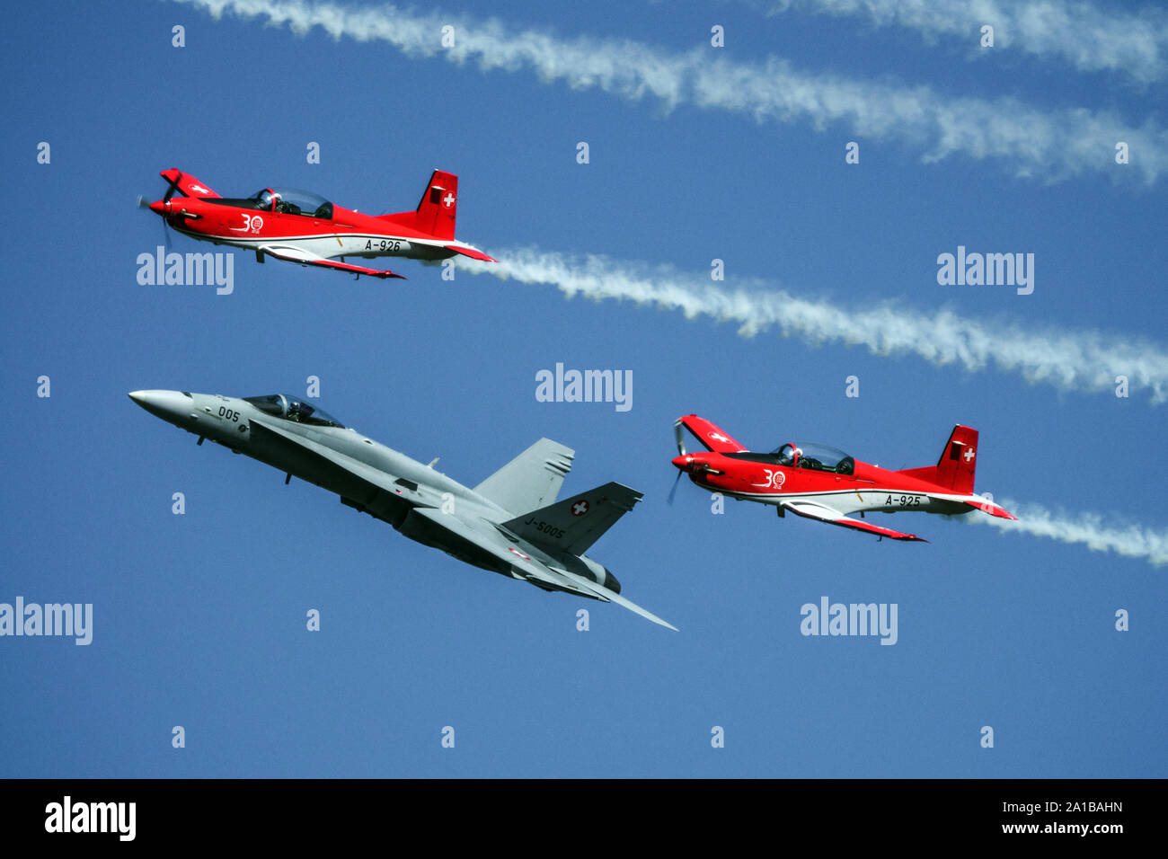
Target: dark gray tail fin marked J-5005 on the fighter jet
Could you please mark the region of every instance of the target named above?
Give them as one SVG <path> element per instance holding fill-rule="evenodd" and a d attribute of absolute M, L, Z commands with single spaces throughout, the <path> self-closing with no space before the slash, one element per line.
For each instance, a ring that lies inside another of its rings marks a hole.
<path fill-rule="evenodd" d="M 633 505 L 641 493 L 619 483 L 606 483 L 548 507 L 533 510 L 502 524 L 519 538 L 542 549 L 588 552 Z"/>

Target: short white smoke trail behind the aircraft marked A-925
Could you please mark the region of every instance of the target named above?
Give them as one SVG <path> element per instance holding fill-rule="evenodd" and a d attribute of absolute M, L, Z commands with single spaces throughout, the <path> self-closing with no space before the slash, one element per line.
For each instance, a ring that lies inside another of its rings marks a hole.
<path fill-rule="evenodd" d="M 1079 513 L 1071 517 L 1066 513 L 1052 513 L 1045 507 L 1033 504 L 1017 504 L 1008 499 L 999 499 L 1008 511 L 1017 517 L 1017 521 L 997 517 L 965 517 L 971 522 L 993 525 L 1002 531 L 1021 531 L 1035 536 L 1049 536 L 1052 540 L 1069 543 L 1084 543 L 1093 552 L 1114 552 L 1125 557 L 1140 557 L 1155 567 L 1168 563 L 1168 532 L 1153 531 L 1131 522 L 1107 522 L 1098 513 Z"/>

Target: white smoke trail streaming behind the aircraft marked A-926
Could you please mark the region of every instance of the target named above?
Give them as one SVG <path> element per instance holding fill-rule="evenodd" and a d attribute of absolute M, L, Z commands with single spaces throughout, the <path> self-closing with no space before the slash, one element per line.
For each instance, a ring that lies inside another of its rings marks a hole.
<path fill-rule="evenodd" d="M 1115 393 L 1126 376 L 1128 393 L 1147 389 L 1153 403 L 1168 399 L 1168 353 L 1155 344 L 1092 331 L 1038 331 L 978 321 L 951 310 L 912 312 L 890 304 L 841 306 L 792 295 L 766 280 L 748 279 L 738 289 L 683 272 L 672 265 L 651 266 L 605 256 L 583 257 L 514 248 L 496 254 L 496 265 L 461 261 L 468 272 L 491 273 L 521 283 L 550 284 L 569 298 L 626 299 L 660 310 L 681 311 L 687 319 L 709 317 L 736 323 L 742 337 L 767 328 L 799 337 L 813 346 L 842 342 L 867 346 L 878 355 L 915 354 L 931 363 L 957 363 L 968 370 L 994 365 L 1020 373 L 1031 383 L 1064 392 Z M 461 258 L 459 258 L 461 259 Z"/>

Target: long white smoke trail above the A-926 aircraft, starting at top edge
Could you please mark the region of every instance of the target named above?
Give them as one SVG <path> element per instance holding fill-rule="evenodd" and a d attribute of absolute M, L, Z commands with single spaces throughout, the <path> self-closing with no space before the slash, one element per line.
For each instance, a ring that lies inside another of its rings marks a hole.
<path fill-rule="evenodd" d="M 334 39 L 381 41 L 406 56 L 439 55 L 484 70 L 530 70 L 545 83 L 600 89 L 628 99 L 652 97 L 667 109 L 690 104 L 752 116 L 757 122 L 839 123 L 868 140 L 899 140 L 922 150 L 924 161 L 954 153 L 976 160 L 999 158 L 1018 175 L 1057 181 L 1086 171 L 1153 185 L 1168 168 L 1168 131 L 1152 119 L 1127 124 L 1113 111 L 1045 111 L 1016 98 L 954 98 L 926 85 L 813 74 L 779 57 L 763 63 L 728 60 L 728 49 L 700 44 L 677 53 L 627 39 L 577 36 L 523 29 L 498 19 L 417 13 L 394 6 L 350 8 L 308 0 L 179 0 L 220 18 L 265 18 L 304 35 L 320 27 Z M 454 44 L 442 44 L 443 27 Z M 1115 164 L 1126 143 L 1131 162 Z M 842 159 L 842 155 L 841 155 Z"/>

